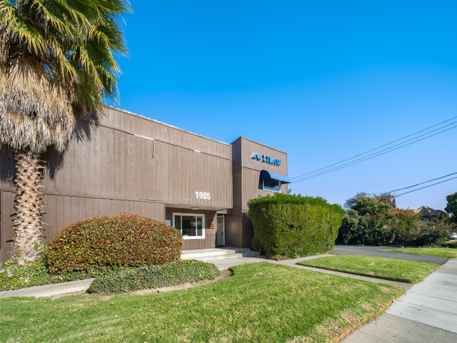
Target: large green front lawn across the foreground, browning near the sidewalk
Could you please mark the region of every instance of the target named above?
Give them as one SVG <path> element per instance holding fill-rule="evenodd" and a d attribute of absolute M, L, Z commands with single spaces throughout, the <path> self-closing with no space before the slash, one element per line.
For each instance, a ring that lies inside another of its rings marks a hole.
<path fill-rule="evenodd" d="M 232 270 L 153 295 L 1 299 L 1 342 L 335 342 L 404 292 L 266 262 Z"/>

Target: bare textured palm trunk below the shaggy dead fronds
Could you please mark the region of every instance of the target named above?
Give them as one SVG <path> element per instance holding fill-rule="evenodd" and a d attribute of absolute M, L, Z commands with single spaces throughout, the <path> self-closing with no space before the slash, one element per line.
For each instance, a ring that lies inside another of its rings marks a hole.
<path fill-rule="evenodd" d="M 14 245 L 12 261 L 25 264 L 34 261 L 43 250 L 42 202 L 39 191 L 41 169 L 39 154 L 15 150 L 16 182 Z"/>

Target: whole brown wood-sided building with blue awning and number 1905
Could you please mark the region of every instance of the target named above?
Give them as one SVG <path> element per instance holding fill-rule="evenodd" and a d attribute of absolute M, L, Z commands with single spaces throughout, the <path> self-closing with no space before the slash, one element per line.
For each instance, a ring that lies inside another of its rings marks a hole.
<path fill-rule="evenodd" d="M 178 228 L 184 250 L 250 247 L 246 202 L 287 192 L 287 154 L 240 137 L 231 144 L 108 108 L 99 122 L 77 120 L 65 153 L 49 149 L 44 236 L 75 221 L 122 212 Z M 13 240 L 14 160 L 0 157 L 0 262 Z"/>

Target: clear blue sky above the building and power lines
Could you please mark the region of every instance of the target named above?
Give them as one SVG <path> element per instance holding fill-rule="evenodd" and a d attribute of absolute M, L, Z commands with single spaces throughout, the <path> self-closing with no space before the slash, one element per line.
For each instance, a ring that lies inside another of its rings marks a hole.
<path fill-rule="evenodd" d="M 457 115 L 456 1 L 131 1 L 120 108 L 288 153 L 289 176 Z M 455 120 L 454 120 L 455 121 Z M 342 204 L 457 172 L 457 129 L 290 186 Z M 457 179 L 397 199 L 443 209 Z"/>

